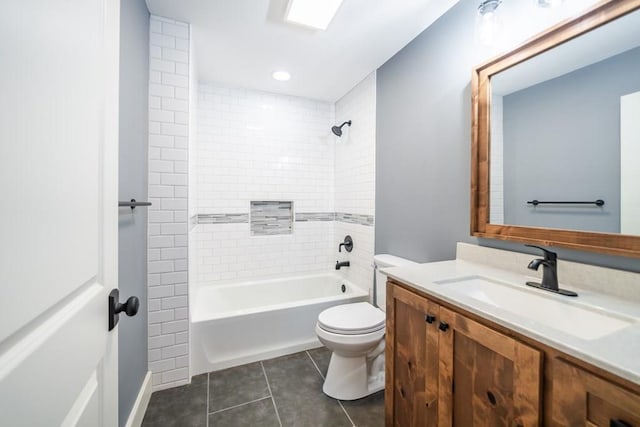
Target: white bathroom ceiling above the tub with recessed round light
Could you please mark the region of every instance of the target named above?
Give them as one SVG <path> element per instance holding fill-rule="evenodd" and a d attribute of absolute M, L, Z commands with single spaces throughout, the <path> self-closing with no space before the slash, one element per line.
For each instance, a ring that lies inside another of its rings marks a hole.
<path fill-rule="evenodd" d="M 147 0 L 147 6 L 192 25 L 200 80 L 333 102 L 457 2 L 344 0 L 326 31 L 285 22 L 288 0 Z M 290 72 L 291 80 L 274 80 L 276 70 Z"/>

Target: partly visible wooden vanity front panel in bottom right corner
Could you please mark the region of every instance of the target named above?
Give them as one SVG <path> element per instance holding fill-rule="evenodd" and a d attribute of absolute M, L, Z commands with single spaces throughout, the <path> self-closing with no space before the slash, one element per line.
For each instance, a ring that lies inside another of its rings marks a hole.
<path fill-rule="evenodd" d="M 555 359 L 551 413 L 554 426 L 640 427 L 640 396 Z"/>

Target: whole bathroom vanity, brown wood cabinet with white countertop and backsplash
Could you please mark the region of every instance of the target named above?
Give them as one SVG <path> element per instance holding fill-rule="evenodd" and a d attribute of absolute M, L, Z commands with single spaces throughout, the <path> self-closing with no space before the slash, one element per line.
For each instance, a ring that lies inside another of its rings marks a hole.
<path fill-rule="evenodd" d="M 531 258 L 459 244 L 385 271 L 386 425 L 640 426 L 640 275 L 565 263 L 571 298 L 527 287 Z M 603 276 L 620 295 L 574 285 Z"/>

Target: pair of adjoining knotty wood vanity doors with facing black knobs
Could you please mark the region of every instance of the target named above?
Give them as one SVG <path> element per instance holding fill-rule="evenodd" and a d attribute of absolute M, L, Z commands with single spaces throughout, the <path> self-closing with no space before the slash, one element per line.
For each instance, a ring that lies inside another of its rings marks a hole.
<path fill-rule="evenodd" d="M 538 426 L 541 353 L 387 285 L 387 426 Z"/>

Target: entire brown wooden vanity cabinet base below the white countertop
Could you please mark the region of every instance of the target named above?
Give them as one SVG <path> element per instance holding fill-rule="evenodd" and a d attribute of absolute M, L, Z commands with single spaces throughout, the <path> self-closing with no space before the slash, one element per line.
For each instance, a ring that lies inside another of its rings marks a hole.
<path fill-rule="evenodd" d="M 385 412 L 399 427 L 640 427 L 640 386 L 390 280 Z"/>

